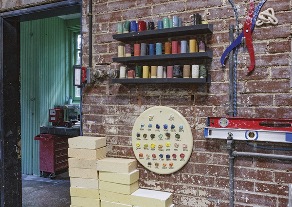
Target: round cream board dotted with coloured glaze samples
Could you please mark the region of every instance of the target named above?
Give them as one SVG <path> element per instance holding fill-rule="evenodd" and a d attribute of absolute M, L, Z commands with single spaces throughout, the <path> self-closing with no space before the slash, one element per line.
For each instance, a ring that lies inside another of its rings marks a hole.
<path fill-rule="evenodd" d="M 137 118 L 132 131 L 137 160 L 158 174 L 183 168 L 191 157 L 193 135 L 178 111 L 164 106 L 147 109 Z"/>

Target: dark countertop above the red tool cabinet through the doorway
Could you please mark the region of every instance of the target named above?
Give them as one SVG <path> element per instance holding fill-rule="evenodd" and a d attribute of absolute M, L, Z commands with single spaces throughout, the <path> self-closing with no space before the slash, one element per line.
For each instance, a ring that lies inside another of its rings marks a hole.
<path fill-rule="evenodd" d="M 73 129 L 68 127 L 54 127 L 52 125 L 41 126 L 40 133 L 58 134 L 67 136 L 80 136 L 80 129 Z"/>

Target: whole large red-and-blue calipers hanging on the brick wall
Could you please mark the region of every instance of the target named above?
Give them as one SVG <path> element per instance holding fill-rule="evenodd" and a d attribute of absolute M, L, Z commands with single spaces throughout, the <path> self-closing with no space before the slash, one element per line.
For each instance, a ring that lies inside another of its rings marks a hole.
<path fill-rule="evenodd" d="M 232 51 L 235 47 L 237 47 L 237 45 L 241 44 L 243 42 L 243 40 L 245 39 L 245 43 L 246 43 L 246 46 L 248 48 L 248 51 L 249 51 L 249 54 L 251 57 L 251 64 L 250 64 L 250 67 L 248 69 L 248 72 L 250 72 L 254 69 L 254 67 L 255 67 L 255 51 L 254 51 L 254 46 L 253 46 L 253 42 L 252 42 L 252 32 L 253 32 L 255 24 L 256 24 L 256 19 L 257 19 L 259 10 L 261 9 L 262 5 L 265 2 L 266 2 L 266 0 L 260 0 L 258 5 L 256 6 L 256 9 L 254 9 L 255 8 L 254 0 L 250 0 L 248 17 L 245 20 L 243 31 L 240 33 L 238 38 L 236 38 L 236 40 L 234 40 L 226 48 L 226 50 L 224 51 L 224 53 L 221 56 L 220 62 L 223 66 L 225 66 L 224 60 L 225 60 L 225 57 L 227 56 L 227 54 L 230 51 Z"/>

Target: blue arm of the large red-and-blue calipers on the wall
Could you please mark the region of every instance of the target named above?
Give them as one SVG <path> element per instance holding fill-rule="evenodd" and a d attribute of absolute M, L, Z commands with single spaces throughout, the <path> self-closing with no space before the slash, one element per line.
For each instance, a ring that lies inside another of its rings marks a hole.
<path fill-rule="evenodd" d="M 254 30 L 255 24 L 256 24 L 256 19 L 259 13 L 259 10 L 261 9 L 262 5 L 264 5 L 264 3 L 267 0 L 261 0 L 258 5 L 256 6 L 256 9 L 254 11 L 254 16 L 253 16 L 253 22 L 252 22 L 252 31 Z M 236 38 L 236 40 L 234 40 L 234 42 L 232 42 L 224 51 L 224 53 L 222 54 L 221 58 L 220 58 L 220 63 L 225 66 L 224 61 L 225 58 L 227 56 L 227 54 L 232 51 L 237 45 L 239 45 L 241 43 L 241 39 L 243 38 L 243 31 L 240 33 L 240 35 L 238 36 L 238 38 Z"/>

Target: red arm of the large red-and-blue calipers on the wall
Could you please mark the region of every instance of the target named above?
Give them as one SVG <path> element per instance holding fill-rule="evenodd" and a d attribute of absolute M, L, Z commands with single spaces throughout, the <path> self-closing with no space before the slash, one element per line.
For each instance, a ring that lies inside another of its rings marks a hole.
<path fill-rule="evenodd" d="M 248 17 L 245 20 L 244 27 L 243 27 L 243 36 L 245 37 L 245 42 L 248 48 L 248 52 L 251 57 L 251 64 L 248 69 L 248 72 L 254 70 L 255 67 L 255 51 L 252 42 L 252 21 L 254 15 L 254 0 L 250 0 L 250 7 L 248 11 Z"/>

